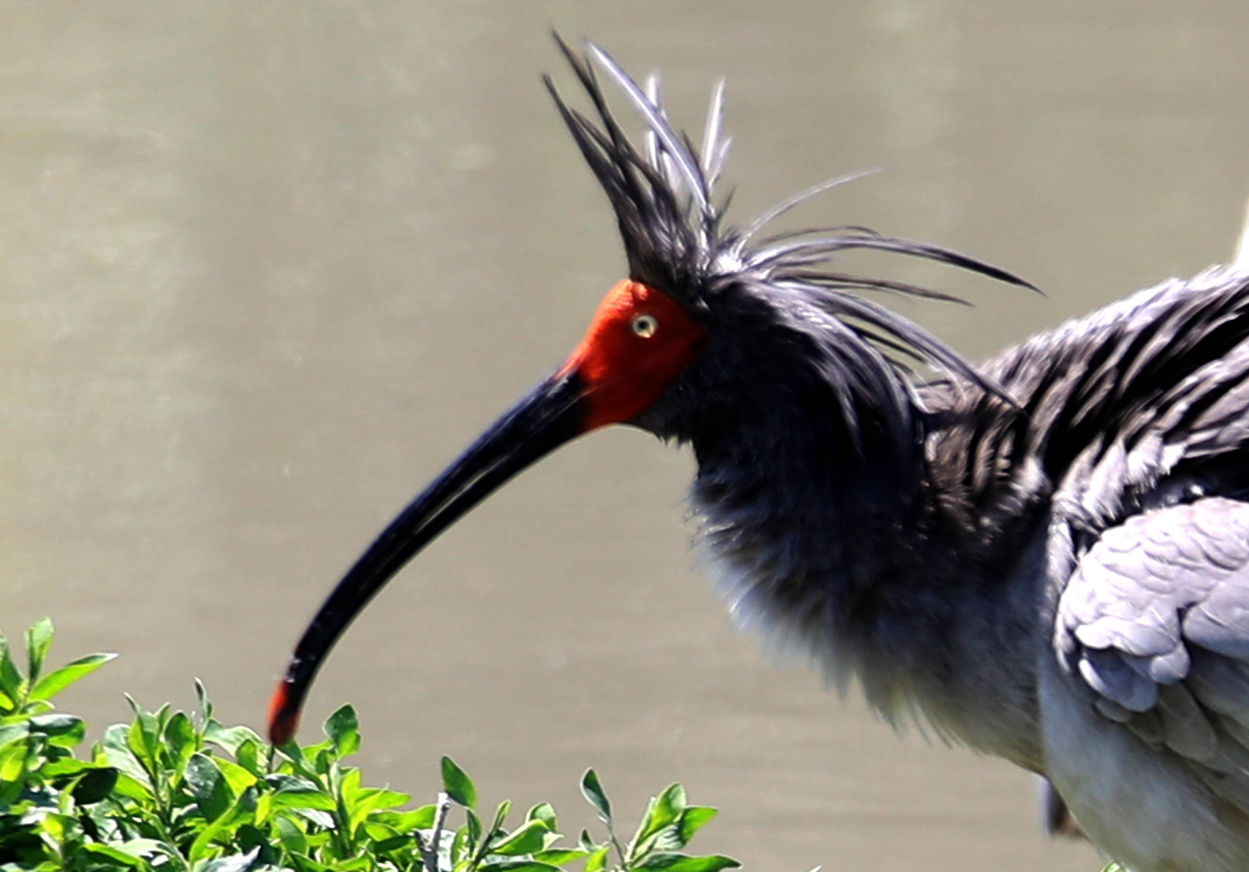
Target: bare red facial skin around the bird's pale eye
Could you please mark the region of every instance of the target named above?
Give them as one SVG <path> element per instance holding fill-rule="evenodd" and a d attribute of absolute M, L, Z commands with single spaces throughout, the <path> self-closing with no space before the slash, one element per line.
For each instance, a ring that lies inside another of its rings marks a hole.
<path fill-rule="evenodd" d="M 651 336 L 634 331 L 646 316 L 656 321 Z M 644 411 L 698 356 L 704 336 L 663 291 L 628 279 L 617 284 L 562 370 L 575 371 L 586 385 L 586 430 L 628 421 Z"/>

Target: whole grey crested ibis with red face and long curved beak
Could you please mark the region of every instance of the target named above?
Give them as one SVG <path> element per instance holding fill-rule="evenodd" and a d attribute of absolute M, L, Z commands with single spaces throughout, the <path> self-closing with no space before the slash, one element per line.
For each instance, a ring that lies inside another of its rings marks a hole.
<path fill-rule="evenodd" d="M 565 52 L 596 120 L 547 84 L 628 279 L 333 590 L 275 695 L 274 742 L 427 542 L 556 446 L 629 424 L 692 448 L 698 541 L 739 623 L 892 723 L 1045 776 L 1135 872 L 1249 868 L 1249 274 L 1165 282 L 973 367 L 868 296 L 945 295 L 833 259 L 1027 282 L 862 227 L 757 240 L 802 196 L 724 221 L 721 90 L 696 147 L 657 80 L 593 45 Z M 642 146 L 596 70 L 637 109 Z"/>

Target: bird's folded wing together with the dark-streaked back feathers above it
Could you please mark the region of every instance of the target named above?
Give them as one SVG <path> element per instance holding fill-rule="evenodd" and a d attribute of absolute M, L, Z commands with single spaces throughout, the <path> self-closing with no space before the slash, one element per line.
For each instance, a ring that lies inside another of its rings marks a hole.
<path fill-rule="evenodd" d="M 921 391 L 938 486 L 975 528 L 1048 517 L 1059 665 L 1249 812 L 1249 274 L 1163 282 L 984 371 L 1017 410 Z M 987 565 L 1019 548 L 985 541 Z"/>

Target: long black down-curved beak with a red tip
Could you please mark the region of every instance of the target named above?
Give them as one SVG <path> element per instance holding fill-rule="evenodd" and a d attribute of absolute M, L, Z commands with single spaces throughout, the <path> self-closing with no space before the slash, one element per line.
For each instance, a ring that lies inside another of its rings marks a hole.
<path fill-rule="evenodd" d="M 587 430 L 585 385 L 565 367 L 482 434 L 390 522 L 347 571 L 291 656 L 269 710 L 269 737 L 285 745 L 321 661 L 370 600 L 407 561 L 512 476 Z"/>

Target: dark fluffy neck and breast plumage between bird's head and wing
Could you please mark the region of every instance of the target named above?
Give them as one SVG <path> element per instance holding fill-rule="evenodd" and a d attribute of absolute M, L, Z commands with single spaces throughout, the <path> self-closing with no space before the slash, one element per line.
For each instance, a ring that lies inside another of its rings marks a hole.
<path fill-rule="evenodd" d="M 999 540 L 949 511 L 934 485 L 924 445 L 939 436 L 928 431 L 936 419 L 913 409 L 914 452 L 898 457 L 897 441 L 863 420 L 856 447 L 839 405 L 813 415 L 792 384 L 768 399 L 693 438 L 702 541 L 734 618 L 813 656 L 841 686 L 858 680 L 891 722 L 922 711 L 938 731 L 988 747 L 993 738 L 964 735 L 944 715 L 945 691 L 929 688 L 974 675 L 955 641 L 968 625 L 994 635 L 994 591 L 1007 586 L 990 567 L 1019 562 L 1038 528 L 1034 507 L 1015 518 L 1014 552 L 994 563 Z M 1015 711 L 1030 692 L 1019 687 Z"/>

